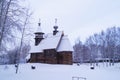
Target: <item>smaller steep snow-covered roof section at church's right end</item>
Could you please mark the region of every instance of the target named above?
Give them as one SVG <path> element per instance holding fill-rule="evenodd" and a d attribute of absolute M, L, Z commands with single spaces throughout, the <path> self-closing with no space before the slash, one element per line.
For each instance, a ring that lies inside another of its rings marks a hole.
<path fill-rule="evenodd" d="M 73 51 L 73 48 L 70 44 L 70 41 L 67 36 L 63 36 L 60 42 L 60 45 L 58 46 L 57 49 L 58 52 L 61 51 Z"/>

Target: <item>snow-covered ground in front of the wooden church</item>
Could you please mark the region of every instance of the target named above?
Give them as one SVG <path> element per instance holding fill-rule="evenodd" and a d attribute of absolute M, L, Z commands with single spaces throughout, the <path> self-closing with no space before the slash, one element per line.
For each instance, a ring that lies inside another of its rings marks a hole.
<path fill-rule="evenodd" d="M 34 65 L 36 68 L 31 69 Z M 0 65 L 0 80 L 72 80 L 72 77 L 84 77 L 86 80 L 120 80 L 120 64 L 106 67 L 102 64 L 90 69 L 89 64 L 52 65 L 52 64 L 20 64 L 15 73 L 14 65 Z M 74 78 L 77 80 L 77 78 Z M 79 79 L 84 80 L 84 79 Z"/>

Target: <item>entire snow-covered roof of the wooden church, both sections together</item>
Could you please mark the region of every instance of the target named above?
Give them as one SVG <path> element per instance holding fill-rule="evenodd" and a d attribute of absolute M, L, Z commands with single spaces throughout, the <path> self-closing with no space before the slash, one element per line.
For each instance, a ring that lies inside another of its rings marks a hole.
<path fill-rule="evenodd" d="M 58 52 L 73 51 L 68 37 L 62 34 L 62 32 L 58 32 L 56 35 L 52 33 L 45 35 L 39 45 L 31 47 L 30 53 L 42 53 L 46 49 L 56 49 Z"/>

